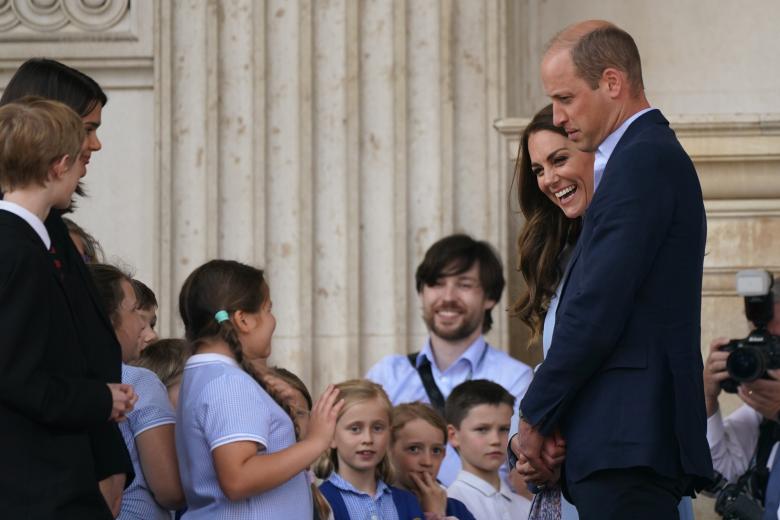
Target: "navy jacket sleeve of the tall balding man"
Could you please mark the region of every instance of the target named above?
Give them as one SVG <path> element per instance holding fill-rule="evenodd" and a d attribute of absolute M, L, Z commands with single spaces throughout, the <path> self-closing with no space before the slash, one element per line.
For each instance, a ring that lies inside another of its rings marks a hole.
<path fill-rule="evenodd" d="M 640 141 L 610 160 L 586 215 L 592 232 L 573 268 L 584 275 L 570 274 L 550 350 L 520 405 L 543 435 L 615 351 L 671 226 L 673 176 L 690 164 L 677 148 Z"/>

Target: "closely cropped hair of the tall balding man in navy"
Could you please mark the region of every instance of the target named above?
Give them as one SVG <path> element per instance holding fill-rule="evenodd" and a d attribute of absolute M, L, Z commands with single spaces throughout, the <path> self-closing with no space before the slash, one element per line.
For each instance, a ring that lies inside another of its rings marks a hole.
<path fill-rule="evenodd" d="M 587 32 L 582 33 L 583 30 Z M 548 50 L 554 49 L 569 49 L 577 75 L 593 89 L 610 67 L 626 74 L 632 95 L 639 95 L 645 88 L 636 42 L 610 22 L 590 20 L 569 26 L 548 44 Z"/>

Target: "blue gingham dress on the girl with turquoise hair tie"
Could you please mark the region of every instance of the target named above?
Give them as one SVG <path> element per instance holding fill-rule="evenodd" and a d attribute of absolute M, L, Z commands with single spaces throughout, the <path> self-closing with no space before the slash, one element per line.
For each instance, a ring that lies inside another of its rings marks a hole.
<path fill-rule="evenodd" d="M 312 517 L 311 488 L 301 471 L 280 486 L 238 501 L 217 481 L 211 452 L 251 441 L 267 453 L 295 443 L 290 417 L 236 361 L 221 354 L 187 360 L 177 409 L 176 450 L 187 498 L 184 520 L 292 520 Z"/>

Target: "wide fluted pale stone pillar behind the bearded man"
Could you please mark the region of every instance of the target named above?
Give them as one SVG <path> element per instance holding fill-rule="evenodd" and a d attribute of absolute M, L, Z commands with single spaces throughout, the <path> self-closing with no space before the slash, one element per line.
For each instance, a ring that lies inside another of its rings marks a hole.
<path fill-rule="evenodd" d="M 455 230 L 505 246 L 506 179 L 491 128 L 502 106 L 502 9 L 161 4 L 169 314 L 192 268 L 237 258 L 267 270 L 273 362 L 315 389 L 418 350 L 412 278 L 428 246 Z"/>

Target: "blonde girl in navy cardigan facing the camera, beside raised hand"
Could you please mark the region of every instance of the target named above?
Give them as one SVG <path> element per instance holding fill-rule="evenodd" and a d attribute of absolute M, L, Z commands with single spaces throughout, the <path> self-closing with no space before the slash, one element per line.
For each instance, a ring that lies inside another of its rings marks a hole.
<path fill-rule="evenodd" d="M 410 492 L 390 486 L 387 449 L 393 405 L 381 386 L 365 379 L 336 385 L 344 400 L 331 449 L 320 457 L 315 473 L 335 520 L 423 518 Z"/>

